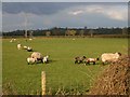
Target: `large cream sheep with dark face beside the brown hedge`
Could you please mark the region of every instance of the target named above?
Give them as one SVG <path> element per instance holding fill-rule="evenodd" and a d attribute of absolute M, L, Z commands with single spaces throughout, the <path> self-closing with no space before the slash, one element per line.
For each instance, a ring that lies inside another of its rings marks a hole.
<path fill-rule="evenodd" d="M 115 63 L 118 60 L 118 58 L 121 56 L 121 53 L 104 53 L 101 55 L 101 60 L 103 65 L 107 61 Z"/>

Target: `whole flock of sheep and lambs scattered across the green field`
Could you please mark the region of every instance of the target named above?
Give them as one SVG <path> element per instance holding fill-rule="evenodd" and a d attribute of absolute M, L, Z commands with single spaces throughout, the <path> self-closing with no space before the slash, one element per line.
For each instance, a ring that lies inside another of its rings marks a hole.
<path fill-rule="evenodd" d="M 31 39 L 32 40 L 32 39 Z M 10 42 L 15 42 L 16 39 L 11 39 Z M 30 41 L 30 39 L 29 39 Z M 27 57 L 27 64 L 38 64 L 38 63 L 49 63 L 49 55 L 43 56 L 39 52 L 34 52 L 34 48 L 28 45 L 22 45 L 21 43 L 17 44 L 17 50 L 26 50 L 27 52 L 32 52 L 28 57 Z M 121 53 L 103 53 L 100 57 L 87 57 L 87 56 L 76 56 L 75 57 L 75 64 L 84 64 L 84 65 L 90 65 L 90 64 L 98 64 L 99 60 L 102 63 L 102 65 L 109 64 L 109 63 L 116 63 L 119 57 L 121 56 Z"/>

